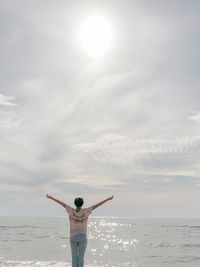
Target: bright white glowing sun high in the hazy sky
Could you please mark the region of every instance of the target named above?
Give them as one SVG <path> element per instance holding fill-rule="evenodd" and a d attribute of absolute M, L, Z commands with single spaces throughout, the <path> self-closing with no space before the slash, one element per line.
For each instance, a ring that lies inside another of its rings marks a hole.
<path fill-rule="evenodd" d="M 80 42 L 92 57 L 100 57 L 109 51 L 113 39 L 110 23 L 101 16 L 88 17 L 81 25 Z"/>

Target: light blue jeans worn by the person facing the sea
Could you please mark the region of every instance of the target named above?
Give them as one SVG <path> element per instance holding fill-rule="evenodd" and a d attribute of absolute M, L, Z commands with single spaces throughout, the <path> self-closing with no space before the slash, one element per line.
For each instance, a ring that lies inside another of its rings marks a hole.
<path fill-rule="evenodd" d="M 86 234 L 77 234 L 70 237 L 72 252 L 72 267 L 84 266 L 84 255 L 87 246 Z"/>

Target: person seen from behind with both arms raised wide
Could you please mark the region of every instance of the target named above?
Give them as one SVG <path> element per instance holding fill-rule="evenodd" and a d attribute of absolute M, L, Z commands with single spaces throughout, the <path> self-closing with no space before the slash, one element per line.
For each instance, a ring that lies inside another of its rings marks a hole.
<path fill-rule="evenodd" d="M 108 200 L 112 200 L 113 196 L 97 203 L 90 208 L 82 209 L 84 200 L 83 198 L 76 198 L 74 205 L 76 208 L 68 206 L 66 203 L 47 195 L 47 198 L 54 200 L 58 204 L 62 205 L 68 215 L 70 222 L 70 245 L 72 253 L 72 267 L 83 267 L 84 266 L 84 255 L 87 245 L 87 222 L 88 216 L 94 209 L 101 206 Z"/>

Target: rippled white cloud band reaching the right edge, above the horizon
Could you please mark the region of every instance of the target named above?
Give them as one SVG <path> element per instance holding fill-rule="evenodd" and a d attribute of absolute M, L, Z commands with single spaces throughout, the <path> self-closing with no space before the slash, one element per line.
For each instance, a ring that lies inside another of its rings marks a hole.
<path fill-rule="evenodd" d="M 200 158 L 200 136 L 169 139 L 133 139 L 117 134 L 105 134 L 95 142 L 75 145 L 97 161 L 119 165 L 134 165 L 140 171 L 191 170 Z"/>

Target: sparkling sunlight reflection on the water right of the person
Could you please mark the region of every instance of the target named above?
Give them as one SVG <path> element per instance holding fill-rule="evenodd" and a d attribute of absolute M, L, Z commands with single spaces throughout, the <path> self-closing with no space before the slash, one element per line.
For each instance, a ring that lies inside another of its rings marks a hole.
<path fill-rule="evenodd" d="M 103 258 L 101 263 L 104 264 L 114 259 L 115 266 L 135 266 L 133 259 L 139 241 L 134 236 L 131 223 L 103 218 L 90 221 L 88 228 L 93 263 L 96 257 Z"/>

